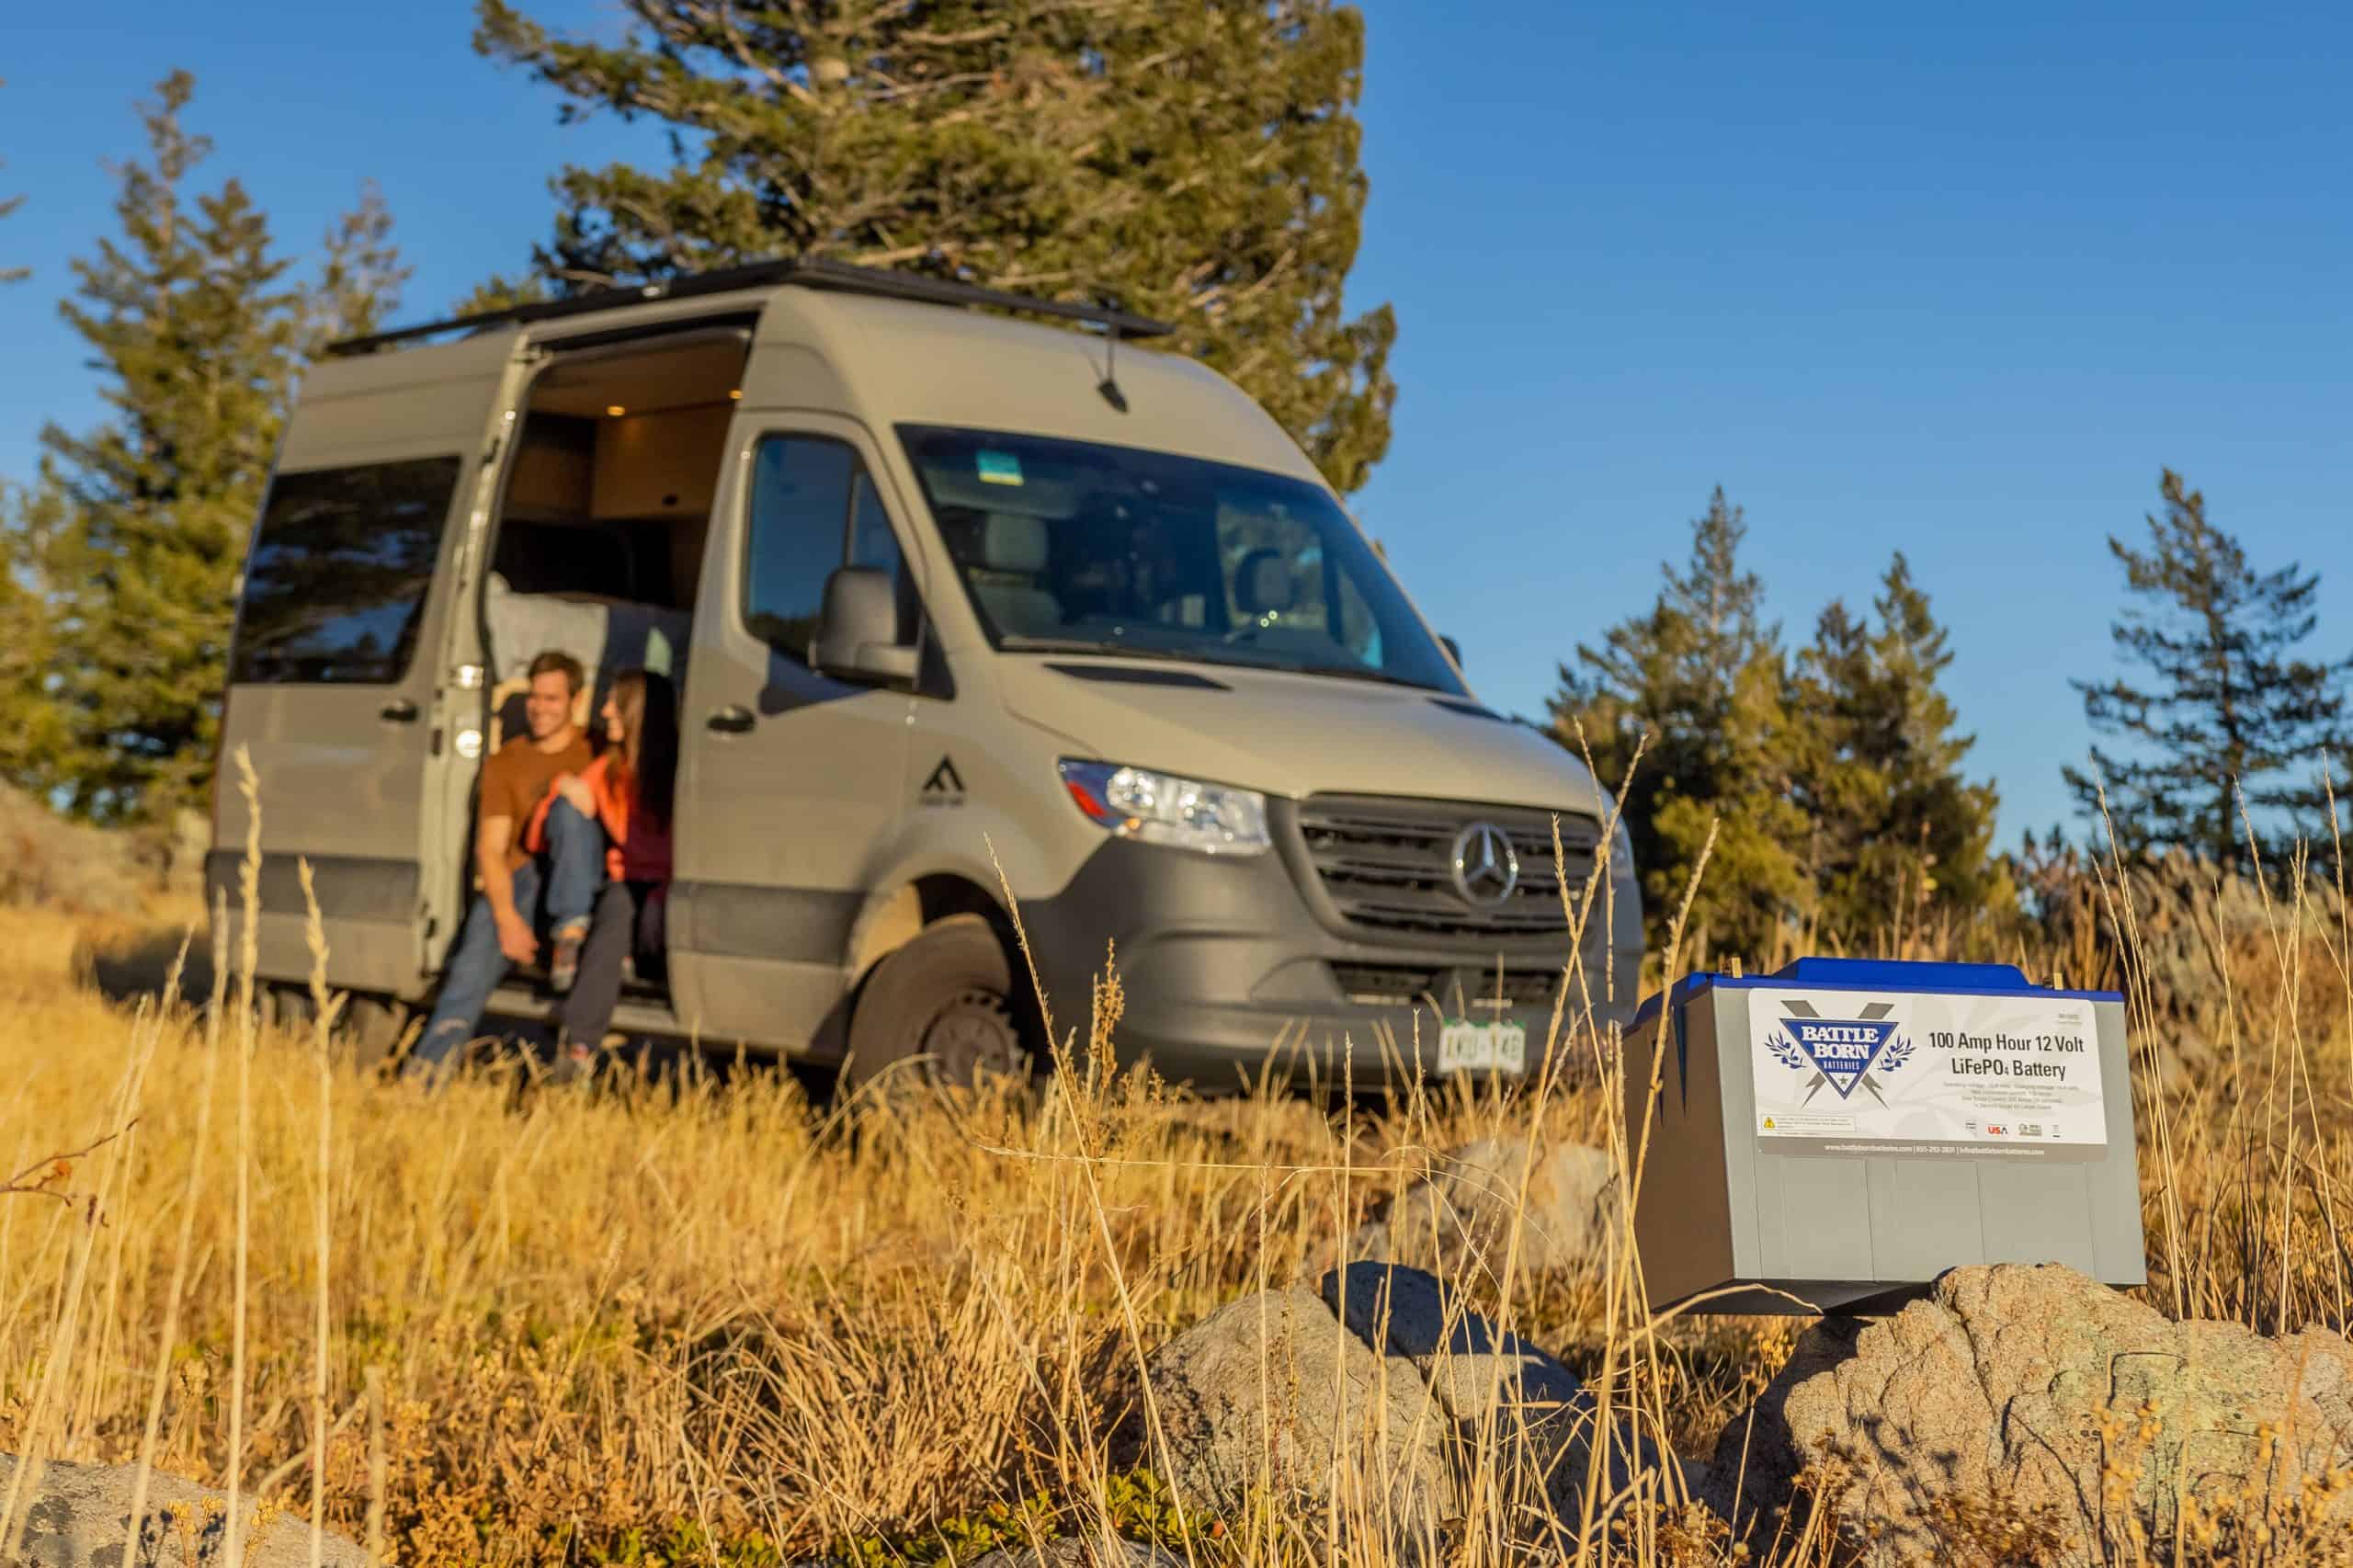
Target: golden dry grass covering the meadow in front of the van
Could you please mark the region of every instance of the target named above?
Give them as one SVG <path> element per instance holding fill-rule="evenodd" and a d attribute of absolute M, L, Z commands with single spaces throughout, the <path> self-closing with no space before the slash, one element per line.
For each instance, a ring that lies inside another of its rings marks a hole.
<path fill-rule="evenodd" d="M 1031 1107 L 852 1116 L 776 1071 L 520 1102 L 336 1071 L 322 1099 L 320 1038 L 249 1031 L 235 994 L 134 1017 L 78 984 L 75 944 L 68 921 L 0 911 L 0 1163 L 40 1189 L 0 1196 L 0 1450 L 136 1462 L 153 1413 L 158 1467 L 238 1474 L 264 1514 L 308 1519 L 325 1427 L 327 1528 L 381 1528 L 400 1563 L 929 1561 L 1106 1526 L 1195 1561 L 1325 1561 L 1320 1521 L 1188 1523 L 1113 1464 L 1139 1347 L 1294 1278 L 1433 1151 L 1532 1125 L 1624 1147 L 1600 1085 L 1327 1111 L 1071 1074 Z M 2327 951 L 2344 986 L 2341 932 Z M 2308 979 L 2240 975 L 2249 996 Z M 1096 1008 L 1115 1015 L 1115 989 Z M 2344 1012 L 2334 994 L 2264 1008 L 2228 1074 L 2141 1076 L 2160 1309 L 2353 1321 Z M 1602 1262 L 1499 1274 L 1508 1300 L 1485 1309 L 1689 1457 L 1802 1328 L 1645 1337 Z M 2325 1559 L 2285 1533 L 2252 1552 L 2268 1500 L 2247 1507 L 2198 1521 L 2181 1561 Z M 1955 1561 L 2040 1552 L 2000 1500 L 1951 1509 Z M 1501 1514 L 1466 1523 L 1459 1561 L 1579 1552 L 1515 1547 Z M 1828 1523 L 1741 1561 L 1826 1563 Z M 1584 1552 L 1734 1561 L 1671 1507 L 1628 1526 Z"/>

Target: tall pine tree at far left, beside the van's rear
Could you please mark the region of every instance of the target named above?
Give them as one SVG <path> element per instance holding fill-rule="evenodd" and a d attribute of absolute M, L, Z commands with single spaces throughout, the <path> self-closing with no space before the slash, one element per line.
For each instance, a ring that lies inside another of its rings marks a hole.
<path fill-rule="evenodd" d="M 122 233 L 73 264 L 61 306 L 111 417 L 42 431 L 42 483 L 9 532 L 12 636 L 45 666 L 0 671 L 0 713 L 21 725 L 0 768 L 106 819 L 200 800 L 238 560 L 289 384 L 308 344 L 374 320 L 400 278 L 381 200 L 329 233 L 306 290 L 235 179 L 191 193 L 209 153 L 181 125 L 193 92 L 176 71 L 141 106 L 148 158 L 120 167 Z"/>

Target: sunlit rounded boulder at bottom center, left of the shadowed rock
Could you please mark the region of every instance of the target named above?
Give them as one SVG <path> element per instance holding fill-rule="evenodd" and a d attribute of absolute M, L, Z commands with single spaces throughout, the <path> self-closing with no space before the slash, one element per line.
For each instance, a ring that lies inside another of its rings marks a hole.
<path fill-rule="evenodd" d="M 1332 1497 L 1391 1542 L 1447 1519 L 1447 1417 L 1412 1363 L 1374 1356 L 1322 1297 L 1261 1290 L 1162 1344 L 1146 1363 L 1167 1453 L 1141 1457 L 1188 1507 L 1240 1509 L 1271 1490 L 1320 1516 Z"/>

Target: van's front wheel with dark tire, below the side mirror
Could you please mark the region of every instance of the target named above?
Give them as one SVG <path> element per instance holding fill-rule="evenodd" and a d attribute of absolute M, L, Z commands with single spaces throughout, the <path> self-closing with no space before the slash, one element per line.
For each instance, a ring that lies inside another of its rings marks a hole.
<path fill-rule="evenodd" d="M 948 916 L 875 965 L 849 1015 L 842 1083 L 861 1088 L 899 1062 L 925 1083 L 972 1088 L 1028 1078 L 1031 1048 L 1012 1003 L 1005 944 L 981 916 Z M 899 1076 L 894 1074 L 894 1076 Z"/>

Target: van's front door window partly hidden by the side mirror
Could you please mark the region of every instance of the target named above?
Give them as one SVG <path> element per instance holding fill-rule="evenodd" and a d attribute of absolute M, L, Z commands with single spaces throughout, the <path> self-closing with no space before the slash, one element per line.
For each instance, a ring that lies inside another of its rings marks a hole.
<path fill-rule="evenodd" d="M 767 436 L 753 452 L 744 629 L 807 664 L 826 577 L 840 565 L 892 572 L 911 640 L 913 584 L 882 497 L 859 454 L 824 436 Z"/>

